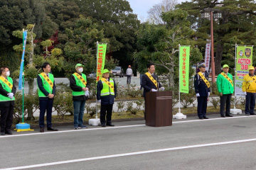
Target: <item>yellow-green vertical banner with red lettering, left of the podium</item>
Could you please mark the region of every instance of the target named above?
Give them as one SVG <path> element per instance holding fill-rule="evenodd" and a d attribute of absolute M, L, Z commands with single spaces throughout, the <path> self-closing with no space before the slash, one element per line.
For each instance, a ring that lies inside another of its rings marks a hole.
<path fill-rule="evenodd" d="M 105 57 L 106 57 L 107 44 L 102 44 L 97 46 L 97 81 L 102 78 L 102 72 L 105 66 Z"/>

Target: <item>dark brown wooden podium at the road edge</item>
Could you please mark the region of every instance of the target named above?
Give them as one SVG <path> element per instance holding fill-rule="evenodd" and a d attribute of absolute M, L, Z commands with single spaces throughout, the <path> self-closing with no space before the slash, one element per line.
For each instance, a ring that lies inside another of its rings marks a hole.
<path fill-rule="evenodd" d="M 155 91 L 146 93 L 146 125 L 153 127 L 172 125 L 172 92 Z"/>

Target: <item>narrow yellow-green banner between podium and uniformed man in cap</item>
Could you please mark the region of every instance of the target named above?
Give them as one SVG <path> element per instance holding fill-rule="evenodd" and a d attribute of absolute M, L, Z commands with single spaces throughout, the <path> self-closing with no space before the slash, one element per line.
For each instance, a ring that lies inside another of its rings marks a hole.
<path fill-rule="evenodd" d="M 179 50 L 179 89 L 188 94 L 190 46 L 180 46 Z"/>

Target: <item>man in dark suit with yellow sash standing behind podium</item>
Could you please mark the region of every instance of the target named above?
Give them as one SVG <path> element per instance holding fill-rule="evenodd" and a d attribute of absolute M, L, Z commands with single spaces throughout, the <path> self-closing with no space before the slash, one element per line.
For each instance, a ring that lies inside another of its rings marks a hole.
<path fill-rule="evenodd" d="M 146 74 L 142 76 L 142 87 L 144 89 L 143 96 L 145 100 L 145 113 L 146 113 L 146 93 L 149 91 L 158 91 L 158 89 L 160 89 L 161 91 L 164 91 L 164 87 L 161 86 L 159 82 L 159 77 L 157 77 L 157 75 L 154 74 L 155 72 L 154 64 L 149 63 L 147 65 L 147 69 L 149 72 L 146 72 Z M 146 119 L 145 113 L 144 113 L 144 118 Z"/>

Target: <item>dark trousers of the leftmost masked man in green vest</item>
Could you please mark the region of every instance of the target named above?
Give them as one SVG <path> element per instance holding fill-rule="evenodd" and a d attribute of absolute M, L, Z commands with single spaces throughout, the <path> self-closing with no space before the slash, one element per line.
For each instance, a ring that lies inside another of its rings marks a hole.
<path fill-rule="evenodd" d="M 13 120 L 13 114 L 14 114 L 14 106 L 10 105 L 8 107 L 1 107 L 1 132 L 6 132 L 11 130 L 11 124 Z"/>

